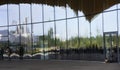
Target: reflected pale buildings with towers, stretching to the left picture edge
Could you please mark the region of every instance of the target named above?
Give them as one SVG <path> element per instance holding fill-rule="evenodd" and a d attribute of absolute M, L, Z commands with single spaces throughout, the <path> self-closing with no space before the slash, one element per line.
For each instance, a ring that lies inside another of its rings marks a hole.
<path fill-rule="evenodd" d="M 9 35 L 8 35 L 9 32 Z M 27 45 L 31 42 L 31 33 L 29 32 L 29 29 L 27 25 L 22 26 L 16 26 L 15 30 L 8 31 L 8 30 L 0 30 L 0 41 L 1 42 L 8 42 L 8 36 L 9 36 L 9 42 L 14 44 L 23 44 Z"/>

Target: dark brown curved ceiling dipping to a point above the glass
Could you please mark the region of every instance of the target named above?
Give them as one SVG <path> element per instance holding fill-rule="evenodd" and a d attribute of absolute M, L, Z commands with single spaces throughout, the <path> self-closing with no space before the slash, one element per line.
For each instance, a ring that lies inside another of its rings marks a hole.
<path fill-rule="evenodd" d="M 68 5 L 76 14 L 78 11 L 82 11 L 86 19 L 91 22 L 97 14 L 120 3 L 120 0 L 0 0 L 0 5 L 20 3 L 47 4 L 60 7 L 66 7 Z"/>

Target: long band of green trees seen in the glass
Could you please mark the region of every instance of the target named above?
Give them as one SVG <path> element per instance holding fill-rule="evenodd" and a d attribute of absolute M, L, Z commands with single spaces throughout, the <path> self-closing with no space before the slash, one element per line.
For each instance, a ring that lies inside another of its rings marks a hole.
<path fill-rule="evenodd" d="M 92 43 L 90 44 L 90 39 Z M 48 30 L 48 35 L 39 36 L 39 42 L 38 46 L 41 46 L 41 44 L 44 43 L 47 44 L 47 47 L 60 47 L 60 48 L 87 48 L 91 45 L 96 45 L 98 47 L 102 47 L 103 45 L 103 37 L 101 35 L 98 35 L 96 37 L 72 37 L 69 40 L 62 41 L 59 38 L 53 37 L 53 29 L 50 28 Z M 68 44 L 68 45 L 67 45 Z"/>

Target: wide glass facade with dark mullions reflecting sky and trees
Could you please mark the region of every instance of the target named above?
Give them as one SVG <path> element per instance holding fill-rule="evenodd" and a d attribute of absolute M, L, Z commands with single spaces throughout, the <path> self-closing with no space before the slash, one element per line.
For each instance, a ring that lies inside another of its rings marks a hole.
<path fill-rule="evenodd" d="M 103 34 L 117 31 L 120 37 L 119 13 L 120 5 L 114 5 L 89 22 L 82 11 L 75 13 L 68 6 L 2 5 L 0 47 L 10 47 L 12 54 L 18 54 L 22 46 L 25 59 L 102 61 L 106 54 Z"/>

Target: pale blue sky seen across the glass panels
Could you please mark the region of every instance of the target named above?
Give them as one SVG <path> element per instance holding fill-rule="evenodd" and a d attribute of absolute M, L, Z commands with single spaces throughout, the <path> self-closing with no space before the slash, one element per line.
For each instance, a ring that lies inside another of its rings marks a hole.
<path fill-rule="evenodd" d="M 31 15 L 30 15 L 30 5 L 28 4 L 21 4 L 21 23 L 25 22 L 25 18 L 27 17 L 28 19 L 28 23 L 31 22 Z M 119 5 L 120 8 L 120 5 Z M 63 19 L 65 18 L 65 8 L 64 7 L 56 7 L 56 19 Z M 116 5 L 105 10 L 112 10 L 112 9 L 116 9 Z M 32 21 L 33 22 L 42 22 L 42 7 L 41 5 L 36 5 L 33 4 L 32 6 Z M 73 10 L 71 10 L 70 8 L 67 8 L 68 11 L 68 18 L 69 17 L 74 17 L 76 16 L 76 14 L 74 13 Z M 17 24 L 19 23 L 19 9 L 18 9 L 18 5 L 9 5 L 9 23 L 10 25 L 12 24 L 13 21 L 16 21 Z M 53 20 L 54 19 L 54 8 L 51 6 L 47 6 L 44 5 L 44 20 L 45 21 L 49 21 L 49 20 Z M 108 31 L 116 31 L 117 30 L 117 11 L 113 11 L 113 12 L 108 12 L 108 13 L 104 13 L 104 31 L 108 32 Z M 82 12 L 79 12 L 79 16 L 83 15 Z M 120 16 L 120 11 L 119 11 L 119 16 Z M 119 17 L 120 19 L 120 17 Z M 69 19 L 67 20 L 68 22 L 68 38 L 71 37 L 75 37 L 78 35 L 78 20 L 76 19 Z M 85 19 L 85 17 L 81 17 L 79 18 L 79 22 L 80 22 L 80 36 L 83 37 L 89 37 L 90 36 L 90 29 L 89 29 L 89 25 L 90 23 Z M 66 39 L 66 21 L 62 20 L 62 21 L 56 21 L 56 34 L 57 37 L 59 37 L 60 39 Z M 119 22 L 120 23 L 120 22 Z M 3 5 L 0 6 L 0 25 L 7 25 L 7 6 Z M 29 28 L 31 27 L 30 25 L 28 26 Z M 45 34 L 47 34 L 48 30 L 50 28 L 53 28 L 54 30 L 54 22 L 49 22 L 49 23 L 45 23 Z M 91 22 L 91 31 L 92 31 L 92 36 L 96 36 L 97 34 L 101 34 L 102 35 L 102 14 L 99 14 L 96 18 L 94 18 L 94 20 Z M 120 27 L 120 24 L 119 24 Z M 14 27 L 15 28 L 15 27 Z M 10 29 L 14 29 L 14 28 L 10 28 Z M 0 30 L 4 30 L 7 29 L 6 27 L 1 27 Z M 119 29 L 120 30 L 120 29 Z M 31 30 L 30 30 L 31 31 Z M 55 31 L 55 30 L 54 30 Z M 43 28 L 42 28 L 42 24 L 35 24 L 33 25 L 33 33 L 34 35 L 43 35 Z"/>

